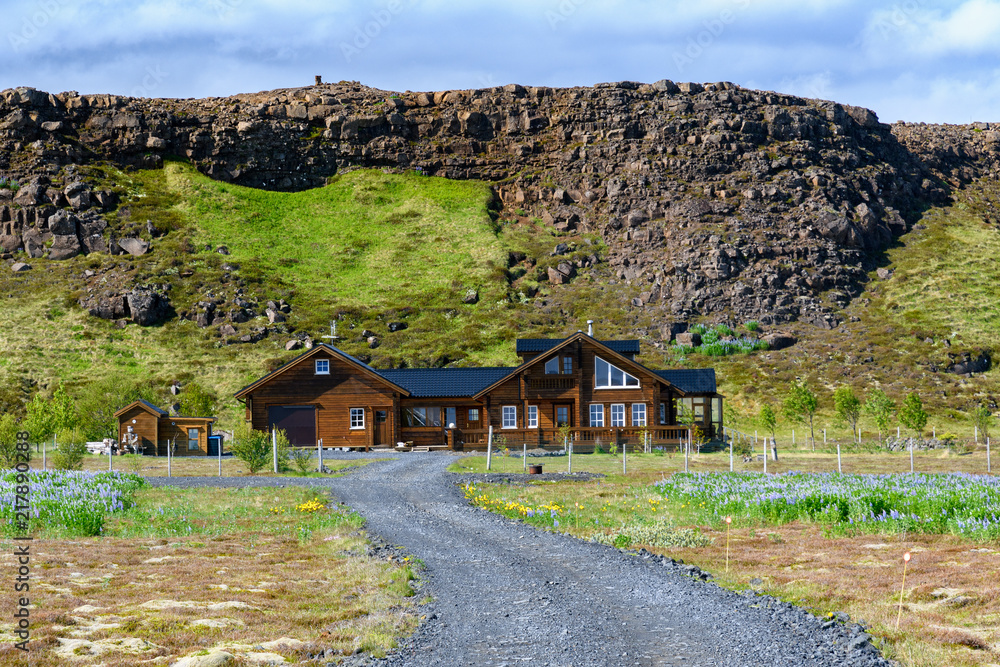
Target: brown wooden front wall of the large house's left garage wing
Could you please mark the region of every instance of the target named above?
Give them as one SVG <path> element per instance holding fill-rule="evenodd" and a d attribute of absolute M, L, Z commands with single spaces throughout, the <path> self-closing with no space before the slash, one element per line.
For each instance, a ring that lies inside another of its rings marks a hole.
<path fill-rule="evenodd" d="M 317 359 L 329 360 L 329 375 L 316 374 Z M 251 424 L 260 431 L 268 428 L 269 407 L 315 407 L 316 437 L 323 440 L 325 447 L 374 446 L 375 410 L 386 411 L 386 428 L 390 435 L 398 432 L 396 392 L 325 350 L 254 389 L 247 397 L 247 405 Z M 364 409 L 363 429 L 351 428 L 351 408 Z"/>

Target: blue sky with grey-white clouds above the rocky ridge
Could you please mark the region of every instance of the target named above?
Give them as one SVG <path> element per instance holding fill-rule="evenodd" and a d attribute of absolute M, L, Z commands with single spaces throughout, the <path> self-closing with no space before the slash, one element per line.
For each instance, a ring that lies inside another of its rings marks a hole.
<path fill-rule="evenodd" d="M 360 81 L 732 81 L 1000 122 L 1000 0 L 0 0 L 0 89 L 209 97 Z"/>

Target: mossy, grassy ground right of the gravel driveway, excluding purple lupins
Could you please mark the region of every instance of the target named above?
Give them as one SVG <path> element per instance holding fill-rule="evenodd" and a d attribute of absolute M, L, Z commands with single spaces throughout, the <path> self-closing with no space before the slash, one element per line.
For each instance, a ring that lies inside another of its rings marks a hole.
<path fill-rule="evenodd" d="M 769 471 L 830 472 L 828 453 L 788 452 Z M 980 453 L 970 456 L 917 455 L 922 472 L 985 471 Z M 565 459 L 545 461 L 546 472 L 566 470 Z M 844 470 L 908 471 L 906 455 L 846 455 Z M 888 530 L 862 533 L 820 521 L 774 523 L 759 517 L 737 518 L 727 534 L 711 508 L 665 497 L 657 481 L 683 470 L 674 455 L 633 455 L 629 474 L 621 457 L 580 455 L 575 471 L 601 472 L 595 481 L 527 485 L 476 484 L 467 495 L 477 505 L 524 518 L 549 530 L 584 539 L 646 547 L 702 567 L 723 586 L 756 588 L 823 615 L 846 611 L 863 621 L 885 655 L 903 665 L 993 665 L 1000 650 L 1000 547 L 951 534 Z M 728 470 L 728 455 L 694 457 L 691 469 Z M 737 470 L 759 472 L 760 464 Z M 451 468 L 483 472 L 484 457 L 470 457 Z M 494 470 L 519 472 L 521 461 L 496 460 Z M 529 477 L 525 481 L 529 481 Z M 651 546 L 652 543 L 661 546 Z M 913 560 L 906 575 L 903 614 L 895 627 L 902 578 L 902 556 Z"/>

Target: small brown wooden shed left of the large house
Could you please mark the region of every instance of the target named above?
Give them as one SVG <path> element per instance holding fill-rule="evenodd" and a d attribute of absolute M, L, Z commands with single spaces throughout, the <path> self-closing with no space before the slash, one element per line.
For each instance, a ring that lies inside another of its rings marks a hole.
<path fill-rule="evenodd" d="M 212 417 L 171 417 L 147 401 L 135 401 L 115 413 L 118 445 L 135 443 L 148 456 L 207 456 Z"/>

